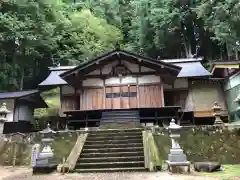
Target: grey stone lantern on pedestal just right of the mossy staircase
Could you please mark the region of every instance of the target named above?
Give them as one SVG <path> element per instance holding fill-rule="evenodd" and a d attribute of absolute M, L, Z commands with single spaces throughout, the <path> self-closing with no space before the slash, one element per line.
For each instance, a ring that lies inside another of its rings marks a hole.
<path fill-rule="evenodd" d="M 172 141 L 172 148 L 170 154 L 168 154 L 168 170 L 173 172 L 177 167 L 187 166 L 188 172 L 190 172 L 190 162 L 187 161 L 186 155 L 183 153 L 180 145 L 178 144 L 178 139 L 180 138 L 181 126 L 175 123 L 175 120 L 172 119 L 168 127 L 170 138 Z"/>

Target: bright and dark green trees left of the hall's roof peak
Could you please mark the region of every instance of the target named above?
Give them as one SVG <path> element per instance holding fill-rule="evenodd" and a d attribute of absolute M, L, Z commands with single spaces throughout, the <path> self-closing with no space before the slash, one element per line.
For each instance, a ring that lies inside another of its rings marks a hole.
<path fill-rule="evenodd" d="M 0 90 L 35 88 L 48 66 L 79 64 L 122 39 L 105 19 L 61 0 L 3 1 L 0 27 Z"/>

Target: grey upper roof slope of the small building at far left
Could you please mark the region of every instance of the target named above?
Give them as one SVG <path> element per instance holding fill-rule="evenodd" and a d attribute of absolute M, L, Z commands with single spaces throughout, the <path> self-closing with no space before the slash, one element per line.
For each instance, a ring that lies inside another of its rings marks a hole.
<path fill-rule="evenodd" d="M 38 93 L 38 90 L 15 91 L 15 92 L 0 92 L 0 99 L 11 99 L 29 96 Z"/>

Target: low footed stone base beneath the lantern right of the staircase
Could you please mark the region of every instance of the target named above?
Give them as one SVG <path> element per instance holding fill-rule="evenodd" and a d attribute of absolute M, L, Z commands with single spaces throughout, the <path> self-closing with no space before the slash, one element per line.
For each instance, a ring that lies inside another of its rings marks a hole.
<path fill-rule="evenodd" d="M 171 173 L 183 173 L 183 172 L 188 172 L 190 173 L 190 162 L 185 161 L 185 162 L 170 162 L 166 161 L 168 164 L 168 171 Z M 186 169 L 187 167 L 187 169 Z"/>

